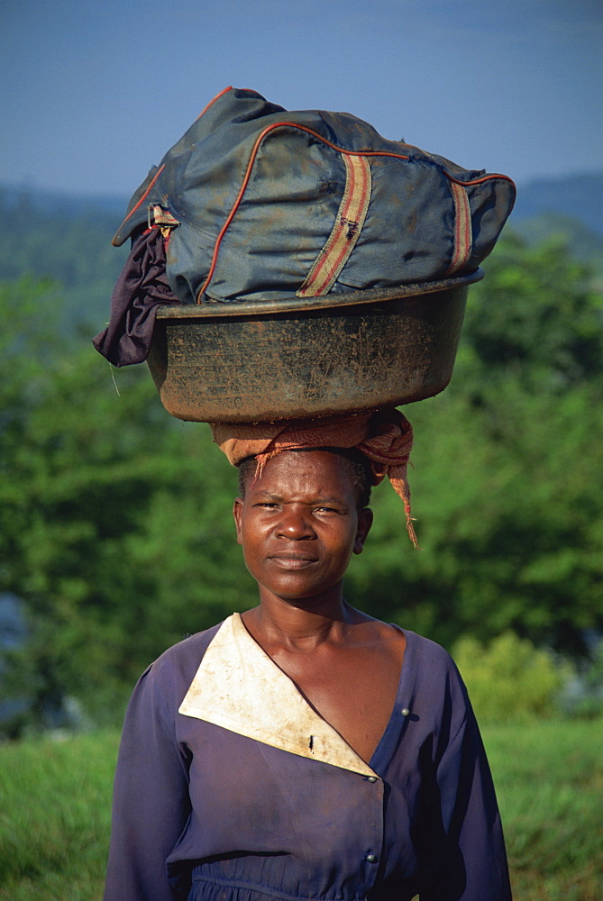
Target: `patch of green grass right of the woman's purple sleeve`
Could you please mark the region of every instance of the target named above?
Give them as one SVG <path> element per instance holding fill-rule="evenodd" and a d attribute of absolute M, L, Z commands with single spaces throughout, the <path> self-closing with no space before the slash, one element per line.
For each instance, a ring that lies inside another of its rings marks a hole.
<path fill-rule="evenodd" d="M 517 901 L 603 898 L 603 721 L 489 725 Z"/>

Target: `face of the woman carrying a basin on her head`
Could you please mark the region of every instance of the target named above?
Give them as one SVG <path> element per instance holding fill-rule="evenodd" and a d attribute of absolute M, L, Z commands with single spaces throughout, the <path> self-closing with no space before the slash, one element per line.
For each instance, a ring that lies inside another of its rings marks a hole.
<path fill-rule="evenodd" d="M 262 591 L 283 599 L 341 593 L 352 553 L 361 553 L 370 510 L 357 510 L 341 458 L 284 451 L 234 502 L 237 541 Z"/>

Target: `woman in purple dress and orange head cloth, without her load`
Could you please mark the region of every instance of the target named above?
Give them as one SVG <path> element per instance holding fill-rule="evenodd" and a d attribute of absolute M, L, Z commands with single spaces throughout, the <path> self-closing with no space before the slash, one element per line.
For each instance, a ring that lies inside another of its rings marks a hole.
<path fill-rule="evenodd" d="M 507 901 L 488 762 L 442 648 L 343 597 L 370 486 L 405 498 L 397 411 L 219 427 L 260 604 L 132 696 L 105 901 Z"/>

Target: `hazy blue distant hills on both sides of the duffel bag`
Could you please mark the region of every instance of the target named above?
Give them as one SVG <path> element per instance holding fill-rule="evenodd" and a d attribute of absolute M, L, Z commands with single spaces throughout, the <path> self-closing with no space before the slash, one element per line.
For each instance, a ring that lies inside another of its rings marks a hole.
<path fill-rule="evenodd" d="M 111 245 L 127 198 L 0 186 L 0 204 L 0 279 L 25 273 L 56 278 L 66 325 L 87 323 L 91 334 L 100 331 L 128 254 L 127 246 Z M 603 278 L 602 210 L 603 172 L 538 178 L 518 187 L 509 226 L 528 241 L 561 236 Z"/>

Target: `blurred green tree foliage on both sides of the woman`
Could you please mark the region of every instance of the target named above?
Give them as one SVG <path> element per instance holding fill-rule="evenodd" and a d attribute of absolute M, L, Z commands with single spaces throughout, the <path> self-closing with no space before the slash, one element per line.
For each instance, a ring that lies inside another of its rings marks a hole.
<path fill-rule="evenodd" d="M 346 596 L 448 647 L 512 630 L 580 655 L 603 627 L 601 299 L 561 246 L 513 235 L 472 291 L 452 385 L 407 409 L 423 550 L 377 488 Z M 35 722 L 66 695 L 98 721 L 256 588 L 236 473 L 206 425 L 171 420 L 145 368 L 112 371 L 64 337 L 59 296 L 48 281 L 0 291 L 0 594 L 29 630 L 1 666 Z"/>

